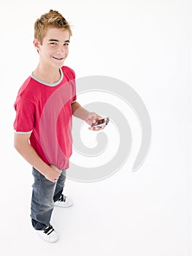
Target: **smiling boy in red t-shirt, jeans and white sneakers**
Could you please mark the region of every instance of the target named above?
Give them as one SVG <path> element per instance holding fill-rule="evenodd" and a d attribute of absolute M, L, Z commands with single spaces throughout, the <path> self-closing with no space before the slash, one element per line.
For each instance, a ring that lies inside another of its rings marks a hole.
<path fill-rule="evenodd" d="M 62 194 L 72 154 L 72 114 L 90 126 L 101 119 L 76 101 L 74 71 L 63 66 L 71 36 L 69 23 L 57 11 L 37 19 L 34 47 L 39 64 L 21 86 L 14 105 L 14 146 L 33 166 L 31 222 L 50 243 L 58 241 L 58 233 L 50 225 L 54 206 L 72 206 L 72 200 Z"/>

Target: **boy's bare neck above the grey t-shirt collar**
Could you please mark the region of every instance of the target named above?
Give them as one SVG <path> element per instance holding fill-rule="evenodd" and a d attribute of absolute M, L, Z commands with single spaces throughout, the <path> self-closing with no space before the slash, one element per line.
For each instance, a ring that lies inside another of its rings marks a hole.
<path fill-rule="evenodd" d="M 58 67 L 42 67 L 40 64 L 34 70 L 33 75 L 46 83 L 56 83 L 61 78 Z"/>

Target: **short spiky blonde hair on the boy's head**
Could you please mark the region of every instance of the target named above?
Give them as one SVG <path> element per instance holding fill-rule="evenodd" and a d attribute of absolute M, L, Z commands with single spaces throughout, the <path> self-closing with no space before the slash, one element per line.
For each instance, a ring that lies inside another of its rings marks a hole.
<path fill-rule="evenodd" d="M 58 11 L 50 10 L 34 23 L 34 38 L 38 39 L 41 44 L 48 27 L 68 30 L 69 37 L 72 36 L 72 30 L 69 23 Z"/>

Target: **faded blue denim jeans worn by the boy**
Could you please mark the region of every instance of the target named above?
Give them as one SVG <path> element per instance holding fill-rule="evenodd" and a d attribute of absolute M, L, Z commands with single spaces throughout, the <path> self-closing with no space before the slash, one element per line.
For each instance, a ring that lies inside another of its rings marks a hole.
<path fill-rule="evenodd" d="M 31 198 L 31 221 L 34 229 L 43 230 L 50 224 L 54 202 L 61 196 L 66 180 L 66 170 L 62 170 L 58 181 L 53 183 L 33 167 L 33 193 Z"/>

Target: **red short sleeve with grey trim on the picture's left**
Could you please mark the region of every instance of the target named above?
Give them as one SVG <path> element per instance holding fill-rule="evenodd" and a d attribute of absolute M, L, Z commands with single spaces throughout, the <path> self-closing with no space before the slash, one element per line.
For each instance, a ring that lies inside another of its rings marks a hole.
<path fill-rule="evenodd" d="M 15 132 L 32 132 L 34 127 L 34 104 L 28 101 L 28 99 L 18 96 L 15 101 L 14 108 L 16 111 L 16 117 L 13 124 Z"/>

